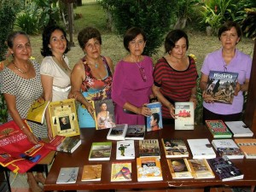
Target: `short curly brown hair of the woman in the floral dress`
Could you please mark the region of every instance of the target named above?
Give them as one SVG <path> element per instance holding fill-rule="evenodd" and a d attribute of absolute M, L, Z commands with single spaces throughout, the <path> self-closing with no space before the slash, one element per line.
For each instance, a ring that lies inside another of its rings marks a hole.
<path fill-rule="evenodd" d="M 96 28 L 87 26 L 78 34 L 79 45 L 82 49 L 84 49 L 85 44 L 87 44 L 90 38 L 96 38 L 102 44 L 101 33 Z"/>

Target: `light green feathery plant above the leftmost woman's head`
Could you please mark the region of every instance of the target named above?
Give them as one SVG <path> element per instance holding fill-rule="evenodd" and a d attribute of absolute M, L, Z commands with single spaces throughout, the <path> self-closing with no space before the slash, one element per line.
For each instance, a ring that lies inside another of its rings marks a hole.
<path fill-rule="evenodd" d="M 21 12 L 16 20 L 15 26 L 27 34 L 38 33 L 38 11 L 35 3 L 30 3 L 26 6 L 24 12 Z"/>

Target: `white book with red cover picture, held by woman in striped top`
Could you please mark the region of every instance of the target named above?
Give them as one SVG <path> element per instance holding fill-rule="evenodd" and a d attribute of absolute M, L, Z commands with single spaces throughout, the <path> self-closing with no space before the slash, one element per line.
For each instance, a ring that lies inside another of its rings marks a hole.
<path fill-rule="evenodd" d="M 195 115 L 193 102 L 175 102 L 175 130 L 194 130 Z"/>

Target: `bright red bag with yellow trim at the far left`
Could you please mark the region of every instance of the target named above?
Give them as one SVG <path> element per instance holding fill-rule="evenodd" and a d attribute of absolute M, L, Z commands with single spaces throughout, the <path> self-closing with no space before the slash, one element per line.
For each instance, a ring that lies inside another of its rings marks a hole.
<path fill-rule="evenodd" d="M 45 145 L 44 142 L 35 145 L 28 141 L 13 120 L 0 125 L 0 165 L 12 172 L 27 172 L 35 166 L 51 151 Z"/>

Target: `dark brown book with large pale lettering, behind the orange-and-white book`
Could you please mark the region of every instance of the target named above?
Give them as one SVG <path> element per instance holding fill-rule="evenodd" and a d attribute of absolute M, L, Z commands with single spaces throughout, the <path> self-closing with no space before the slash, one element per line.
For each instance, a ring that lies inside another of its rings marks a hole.
<path fill-rule="evenodd" d="M 160 147 L 158 139 L 139 140 L 139 156 L 155 156 L 160 158 Z"/>

